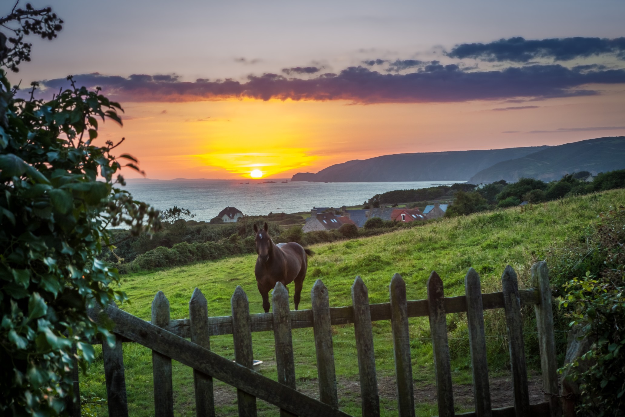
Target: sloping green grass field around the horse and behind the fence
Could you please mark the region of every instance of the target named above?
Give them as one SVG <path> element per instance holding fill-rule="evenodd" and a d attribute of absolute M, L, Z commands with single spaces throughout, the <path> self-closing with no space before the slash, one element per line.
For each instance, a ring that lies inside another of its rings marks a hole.
<path fill-rule="evenodd" d="M 350 288 L 356 275 L 360 275 L 367 285 L 371 303 L 388 301 L 388 284 L 394 273 L 401 274 L 406 281 L 408 299 L 426 297 L 426 281 L 432 270 L 436 270 L 444 281 L 446 296 L 464 294 L 464 275 L 469 266 L 481 275 L 483 292 L 501 291 L 499 278 L 506 264 L 516 270 L 520 285 L 526 287 L 531 264 L 544 259 L 548 248 L 557 248 L 568 239 L 584 236 L 589 226 L 596 221 L 598 213 L 619 205 L 625 205 L 625 190 L 566 198 L 524 210 L 511 208 L 442 219 L 422 227 L 381 236 L 319 244 L 311 248 L 316 254 L 309 259 L 300 308 L 310 308 L 309 294 L 315 279 L 322 279 L 329 289 L 331 306 L 351 304 Z M 229 315 L 231 295 L 236 286 L 240 285 L 249 298 L 251 313 L 262 313 L 262 300 L 256 289 L 253 272 L 255 261 L 255 255 L 241 256 L 124 276 L 122 289 L 131 299 L 131 304 L 125 304 L 122 308 L 149 320 L 152 299 L 161 290 L 169 299 L 171 318 L 187 318 L 189 299 L 197 287 L 208 300 L 209 316 Z M 536 336 L 533 333 L 535 329 L 531 327 L 533 313 L 530 310 L 528 312 L 531 314 L 527 314 L 526 320 L 526 353 L 529 366 L 537 369 Z M 487 311 L 485 321 L 489 368 L 494 375 L 506 375 L 507 347 L 502 311 Z M 463 314 L 449 314 L 447 324 L 454 383 L 471 383 L 469 345 Z M 394 361 L 390 323 L 374 322 L 373 331 L 378 378 L 381 381 L 392 380 Z M 415 386 L 431 386 L 434 380 L 427 319 L 411 319 L 410 332 Z M 293 341 L 298 388 L 316 396 L 312 329 L 295 329 Z M 273 334 L 253 333 L 252 343 L 254 358 L 264 361 L 261 373 L 276 379 Z M 211 349 L 222 356 L 233 358 L 232 336 L 211 338 Z M 89 366 L 88 374 L 81 376 L 81 393 L 87 398 L 106 397 L 99 347 L 97 353 L 96 362 Z M 334 355 L 341 409 L 352 415 L 360 415 L 359 391 L 354 389 L 358 369 L 353 326 L 334 327 Z M 154 415 L 149 349 L 136 344 L 124 344 L 124 361 L 131 415 Z M 234 391 L 224 384 L 216 383 L 216 393 L 218 414 L 236 415 Z M 194 415 L 191 369 L 175 362 L 174 401 L 176 415 Z M 259 415 L 277 415 L 274 406 L 262 401 L 258 401 L 258 404 Z M 391 394 L 384 395 L 382 392 L 381 406 L 382 415 L 396 415 L 396 404 Z M 457 408 L 466 411 L 467 406 L 460 404 Z M 107 415 L 106 407 L 98 413 Z M 435 414 L 437 411 L 433 400 L 417 401 L 417 415 Z"/>

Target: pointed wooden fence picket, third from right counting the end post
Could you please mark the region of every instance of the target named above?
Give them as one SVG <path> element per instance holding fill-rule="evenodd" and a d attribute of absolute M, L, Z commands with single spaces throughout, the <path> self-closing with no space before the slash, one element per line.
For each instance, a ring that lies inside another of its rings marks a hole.
<path fill-rule="evenodd" d="M 484 310 L 479 275 L 469 268 L 464 277 L 464 292 L 467 300 L 467 326 L 469 328 L 469 349 L 473 371 L 473 396 L 477 417 L 491 417 L 491 388 L 488 383 L 486 361 L 486 334 L 484 334 Z"/>

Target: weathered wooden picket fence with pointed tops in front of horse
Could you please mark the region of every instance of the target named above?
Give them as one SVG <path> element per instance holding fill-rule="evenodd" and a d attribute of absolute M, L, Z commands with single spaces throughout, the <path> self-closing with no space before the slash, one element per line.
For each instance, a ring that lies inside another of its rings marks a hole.
<path fill-rule="evenodd" d="M 354 324 L 357 361 L 360 374 L 362 416 L 380 415 L 376 363 L 371 322 L 391 320 L 397 381 L 397 414 L 414 416 L 414 391 L 408 318 L 428 316 L 436 370 L 439 416 L 454 416 L 451 365 L 447 343 L 446 314 L 466 312 L 471 347 L 475 411 L 462 416 L 559 416 L 557 396 L 545 395 L 545 401 L 530 404 L 523 343 L 521 307 L 533 305 L 536 313 L 541 351 L 543 389 L 557 394 L 556 353 L 551 309 L 551 289 L 544 262 L 532 266 L 533 289 L 519 291 L 517 276 L 507 266 L 502 275 L 502 291 L 482 294 L 479 276 L 469 269 L 465 278 L 466 295 L 444 297 L 441 278 L 432 272 L 427 281 L 427 299 L 407 301 L 406 284 L 395 274 L 389 286 L 389 303 L 369 304 L 367 288 L 360 277 L 351 289 L 352 305 L 330 308 L 326 286 L 317 280 L 311 291 L 312 309 L 289 311 L 289 294 L 276 284 L 272 313 L 249 314 L 247 296 L 237 287 L 232 296 L 232 315 L 208 317 L 207 302 L 195 289 L 189 302 L 189 319 L 169 319 L 169 302 L 159 291 L 152 303 L 152 321 L 143 321 L 111 305 L 103 314 L 115 324 L 116 344 L 103 344 L 104 373 L 110 417 L 128 416 L 122 343 L 140 343 L 153 351 L 154 412 L 157 417 L 174 414 L 172 368 L 175 359 L 193 368 L 196 415 L 214 416 L 212 378 L 237 388 L 239 416 L 256 416 L 256 398 L 275 404 L 281 416 L 347 416 L 340 411 L 336 389 L 333 324 Z M 504 308 L 510 353 L 514 406 L 491 408 L 484 309 Z M 317 353 L 319 400 L 296 390 L 291 329 L 314 328 Z M 253 371 L 252 332 L 273 331 L 276 346 L 277 381 Z M 210 350 L 210 337 L 232 334 L 236 363 Z M 187 339 L 190 339 L 187 340 Z M 76 393 L 78 394 L 78 393 Z M 79 408 L 78 415 L 79 415 Z"/>

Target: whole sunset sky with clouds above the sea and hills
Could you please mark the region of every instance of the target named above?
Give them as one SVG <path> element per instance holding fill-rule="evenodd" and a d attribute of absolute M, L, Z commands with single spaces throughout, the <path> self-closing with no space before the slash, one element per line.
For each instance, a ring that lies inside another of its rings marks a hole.
<path fill-rule="evenodd" d="M 64 28 L 11 81 L 103 88 L 148 178 L 625 135 L 622 0 L 32 4 Z"/>

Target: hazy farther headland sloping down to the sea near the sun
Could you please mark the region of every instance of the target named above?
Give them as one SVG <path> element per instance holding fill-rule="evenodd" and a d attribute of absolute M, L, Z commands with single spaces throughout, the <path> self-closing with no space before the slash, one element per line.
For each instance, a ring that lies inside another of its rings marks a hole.
<path fill-rule="evenodd" d="M 367 183 L 378 181 L 466 181 L 482 169 L 517 159 L 548 146 L 409 153 L 354 159 L 322 169 L 316 174 L 297 173 L 291 181 Z"/>

